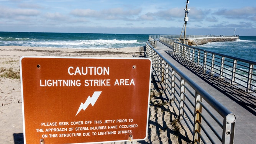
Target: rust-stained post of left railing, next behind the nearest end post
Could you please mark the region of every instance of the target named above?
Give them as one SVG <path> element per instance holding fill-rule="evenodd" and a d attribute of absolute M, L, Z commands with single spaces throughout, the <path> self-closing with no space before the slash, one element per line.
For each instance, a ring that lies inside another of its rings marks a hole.
<path fill-rule="evenodd" d="M 201 123 L 202 119 L 200 115 L 200 113 L 202 113 L 202 105 L 198 101 L 202 102 L 202 97 L 199 95 L 199 93 L 195 92 L 194 142 L 200 141 L 199 133 L 201 133 L 201 127 L 199 123 Z"/>

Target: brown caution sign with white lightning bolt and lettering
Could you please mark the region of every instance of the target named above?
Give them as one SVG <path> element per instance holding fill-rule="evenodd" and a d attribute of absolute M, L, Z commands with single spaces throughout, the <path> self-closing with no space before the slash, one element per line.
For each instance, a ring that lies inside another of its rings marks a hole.
<path fill-rule="evenodd" d="M 26 144 L 147 137 L 151 60 L 21 57 Z"/>

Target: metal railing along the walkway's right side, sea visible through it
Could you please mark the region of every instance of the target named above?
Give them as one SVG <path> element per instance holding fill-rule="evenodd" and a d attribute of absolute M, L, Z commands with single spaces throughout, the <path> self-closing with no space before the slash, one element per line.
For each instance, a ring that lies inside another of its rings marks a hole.
<path fill-rule="evenodd" d="M 177 39 L 166 36 L 160 36 L 159 39 L 179 56 L 202 67 L 210 74 L 241 86 L 245 92 L 256 92 L 256 62 L 181 44 Z"/>

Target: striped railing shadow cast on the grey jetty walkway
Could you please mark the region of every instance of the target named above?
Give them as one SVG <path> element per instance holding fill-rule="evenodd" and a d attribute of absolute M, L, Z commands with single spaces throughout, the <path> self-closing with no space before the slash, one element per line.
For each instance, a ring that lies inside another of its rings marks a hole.
<path fill-rule="evenodd" d="M 165 51 L 169 56 L 175 59 L 179 64 L 190 70 L 199 78 L 207 82 L 213 88 L 222 92 L 231 100 L 238 103 L 240 106 L 248 110 L 254 116 L 256 116 L 256 95 L 255 93 L 248 93 L 238 85 L 233 85 L 224 79 L 218 77 L 218 75 L 211 75 L 209 72 L 205 72 L 202 67 L 199 67 L 181 56 L 177 55 L 174 51 Z"/>

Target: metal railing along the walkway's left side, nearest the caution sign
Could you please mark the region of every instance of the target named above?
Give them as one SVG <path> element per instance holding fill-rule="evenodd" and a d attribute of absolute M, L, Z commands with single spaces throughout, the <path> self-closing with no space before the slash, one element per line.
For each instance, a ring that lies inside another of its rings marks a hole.
<path fill-rule="evenodd" d="M 145 56 L 152 59 L 152 68 L 175 104 L 178 118 L 187 119 L 184 122 L 193 142 L 232 144 L 235 115 L 156 51 L 155 44 L 156 40 L 147 41 Z"/>

